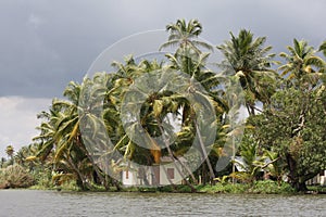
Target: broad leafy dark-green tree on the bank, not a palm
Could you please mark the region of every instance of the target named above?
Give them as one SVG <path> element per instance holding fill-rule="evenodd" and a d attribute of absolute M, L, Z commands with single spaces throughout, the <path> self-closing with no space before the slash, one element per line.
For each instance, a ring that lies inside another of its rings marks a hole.
<path fill-rule="evenodd" d="M 255 138 L 287 163 L 290 181 L 298 190 L 326 168 L 325 90 L 287 88 L 271 99 L 261 115 L 252 117 Z M 322 91 L 321 91 L 322 90 Z"/>

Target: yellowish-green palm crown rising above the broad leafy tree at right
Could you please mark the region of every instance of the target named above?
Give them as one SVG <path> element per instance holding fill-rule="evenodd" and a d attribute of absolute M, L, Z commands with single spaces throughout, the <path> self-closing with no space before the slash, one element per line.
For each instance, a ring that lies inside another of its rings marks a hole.
<path fill-rule="evenodd" d="M 281 76 L 286 76 L 286 79 L 296 87 L 301 85 L 303 85 L 302 88 L 306 88 L 309 85 L 312 88 L 315 87 L 325 72 L 323 59 L 315 55 L 316 51 L 304 40 L 293 39 L 293 47 L 288 46 L 287 49 L 289 54 L 284 52 L 279 54 L 286 60 L 286 64 L 278 68 Z"/>

